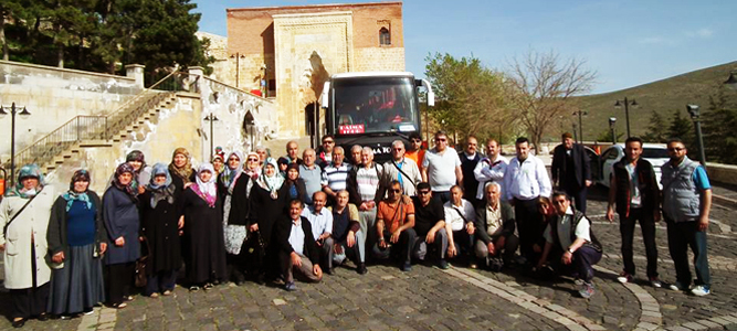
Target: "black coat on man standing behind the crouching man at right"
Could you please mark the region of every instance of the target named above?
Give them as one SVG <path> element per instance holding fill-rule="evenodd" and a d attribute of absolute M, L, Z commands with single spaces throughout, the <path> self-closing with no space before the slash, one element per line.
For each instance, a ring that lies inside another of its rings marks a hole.
<path fill-rule="evenodd" d="M 552 150 L 552 164 L 550 167 L 550 173 L 552 174 L 552 182 L 555 183 L 558 179 L 560 180 L 570 180 L 571 178 L 576 179 L 573 183 L 559 183 L 559 186 L 570 188 L 571 184 L 576 184 L 576 188 L 581 189 L 586 188 L 586 181 L 591 180 L 591 166 L 589 156 L 586 154 L 586 149 L 582 145 L 573 143 L 573 148 L 570 151 L 571 159 L 573 160 L 573 173 L 567 173 L 569 168 L 567 164 L 568 156 L 566 152 L 566 146 L 558 145 Z"/>

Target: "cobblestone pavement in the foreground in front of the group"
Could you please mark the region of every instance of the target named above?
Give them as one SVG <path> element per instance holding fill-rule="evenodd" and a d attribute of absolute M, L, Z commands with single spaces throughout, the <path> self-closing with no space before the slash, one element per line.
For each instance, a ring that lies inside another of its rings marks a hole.
<path fill-rule="evenodd" d="M 649 285 L 644 245 L 635 236 L 636 281 L 615 280 L 622 268 L 617 223 L 603 217 L 603 190 L 591 190 L 589 214 L 604 243 L 597 293 L 581 299 L 570 278 L 552 282 L 517 269 L 441 270 L 417 265 L 410 273 L 372 266 L 369 274 L 338 268 L 322 284 L 220 285 L 210 291 L 177 288 L 171 297 L 137 297 L 123 310 L 97 308 L 72 320 L 29 321 L 27 330 L 737 330 L 737 212 L 715 206 L 709 227 L 713 292 L 695 297 Z M 661 279 L 675 273 L 664 224 L 657 226 Z M 0 313 L 9 297 L 0 293 Z M 7 319 L 0 329 L 11 329 Z"/>

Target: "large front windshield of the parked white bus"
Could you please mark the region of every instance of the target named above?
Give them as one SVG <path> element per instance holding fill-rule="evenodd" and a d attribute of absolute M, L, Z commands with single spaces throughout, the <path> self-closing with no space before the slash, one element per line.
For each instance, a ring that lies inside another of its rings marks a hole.
<path fill-rule="evenodd" d="M 414 79 L 354 77 L 333 82 L 335 134 L 412 132 L 419 128 Z"/>

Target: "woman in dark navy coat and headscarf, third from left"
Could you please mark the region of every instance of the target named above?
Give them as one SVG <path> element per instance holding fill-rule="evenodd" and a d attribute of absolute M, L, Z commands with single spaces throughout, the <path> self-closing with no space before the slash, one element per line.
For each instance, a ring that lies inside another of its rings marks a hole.
<path fill-rule="evenodd" d="M 106 271 L 107 302 L 113 308 L 125 308 L 124 300 L 131 300 L 136 259 L 140 257 L 138 231 L 137 190 L 133 179 L 135 170 L 129 163 L 122 163 L 115 170 L 115 179 L 103 195 L 103 223 L 110 243 L 104 257 Z"/>

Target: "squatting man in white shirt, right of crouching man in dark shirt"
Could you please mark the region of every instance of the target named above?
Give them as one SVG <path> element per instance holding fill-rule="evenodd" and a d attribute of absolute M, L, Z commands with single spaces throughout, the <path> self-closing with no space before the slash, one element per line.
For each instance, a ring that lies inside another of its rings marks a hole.
<path fill-rule="evenodd" d="M 445 212 L 445 233 L 448 233 L 446 256 L 453 258 L 462 253 L 471 255 L 476 211 L 471 202 L 463 199 L 461 186 L 451 188 L 451 201 L 443 205 L 443 210 Z M 472 264 L 472 267 L 474 265 Z"/>

